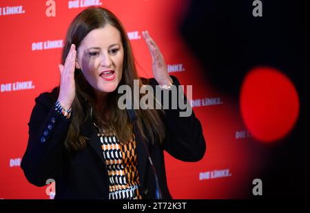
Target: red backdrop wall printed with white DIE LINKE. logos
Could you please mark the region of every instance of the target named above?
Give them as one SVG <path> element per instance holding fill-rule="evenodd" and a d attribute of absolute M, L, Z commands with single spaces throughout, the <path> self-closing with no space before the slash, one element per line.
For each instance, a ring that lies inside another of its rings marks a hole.
<path fill-rule="evenodd" d="M 53 2 L 55 16 L 48 16 Z M 4 0 L 0 1 L 0 198 L 49 199 L 46 187 L 28 183 L 20 162 L 28 142 L 34 98 L 59 84 L 57 65 L 65 32 L 87 3 L 111 10 L 123 22 L 141 76 L 152 77 L 151 56 L 142 37 L 142 31 L 148 30 L 163 53 L 170 74 L 182 85 L 193 85 L 193 109 L 203 126 L 207 152 L 196 163 L 178 161 L 165 153 L 172 197 L 248 197 L 254 174 L 263 167 L 264 160 L 256 150 L 258 142 L 242 122 L 238 100 L 218 93 L 202 77 L 201 65 L 178 33 L 188 1 Z M 49 41 L 56 43 L 54 48 L 47 46 Z M 38 49 L 40 42 L 42 49 Z"/>

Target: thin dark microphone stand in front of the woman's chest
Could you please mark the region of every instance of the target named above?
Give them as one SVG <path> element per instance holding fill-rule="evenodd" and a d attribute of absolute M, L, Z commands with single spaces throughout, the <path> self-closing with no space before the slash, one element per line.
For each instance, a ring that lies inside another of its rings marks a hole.
<path fill-rule="evenodd" d="M 127 113 L 130 117 L 130 121 L 132 122 L 133 124 L 133 128 L 134 128 L 134 135 L 136 135 L 136 138 L 138 139 L 138 142 L 142 143 L 146 152 L 147 152 L 147 159 L 149 159 L 149 164 L 151 165 L 151 168 L 154 172 L 154 177 L 155 177 L 155 184 L 156 184 L 156 199 L 163 199 L 163 196 L 161 194 L 161 188 L 159 186 L 159 183 L 158 183 L 158 176 L 157 176 L 157 172 L 156 172 L 156 169 L 155 169 L 155 166 L 152 162 L 152 158 L 151 158 L 151 155 L 149 155 L 149 149 L 147 148 L 146 144 L 142 141 L 142 137 L 141 137 L 141 134 L 140 132 L 138 131 L 138 128 L 137 128 L 137 124 L 136 124 L 136 111 L 133 109 L 128 109 L 127 108 Z M 147 174 L 148 175 L 148 174 Z"/>

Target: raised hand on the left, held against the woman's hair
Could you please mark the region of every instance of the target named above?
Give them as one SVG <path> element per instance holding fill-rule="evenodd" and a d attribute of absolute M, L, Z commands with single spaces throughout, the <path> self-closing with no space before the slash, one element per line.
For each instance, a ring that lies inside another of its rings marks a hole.
<path fill-rule="evenodd" d="M 59 102 L 63 109 L 70 109 L 75 97 L 74 70 L 76 61 L 76 49 L 72 44 L 65 65 L 58 65 L 61 73 L 61 83 L 59 89 Z"/>

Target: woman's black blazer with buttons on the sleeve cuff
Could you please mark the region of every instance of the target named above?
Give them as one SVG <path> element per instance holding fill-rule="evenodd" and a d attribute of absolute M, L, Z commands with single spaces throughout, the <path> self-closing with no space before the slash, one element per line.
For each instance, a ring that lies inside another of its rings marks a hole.
<path fill-rule="evenodd" d="M 179 85 L 176 77 L 172 76 L 172 79 L 175 85 Z M 155 87 L 158 83 L 151 78 L 149 85 Z M 25 177 L 35 186 L 45 186 L 48 179 L 54 179 L 55 199 L 107 199 L 109 180 L 101 142 L 94 125 L 89 119 L 81 128 L 81 133 L 90 138 L 87 147 L 68 152 L 64 141 L 71 120 L 65 120 L 56 113 L 53 106 L 57 97 L 58 93 L 54 89 L 36 98 L 28 123 L 28 146 L 21 161 Z M 206 150 L 201 124 L 194 111 L 189 117 L 179 117 L 179 112 L 180 109 L 165 109 L 165 141 L 163 144 L 149 143 L 149 152 L 164 199 L 170 199 L 171 195 L 167 188 L 163 150 L 182 161 L 199 161 Z M 144 199 L 154 199 L 156 183 L 153 170 L 147 168 L 147 150 L 139 142 L 136 148 L 141 182 L 139 190 Z"/>

